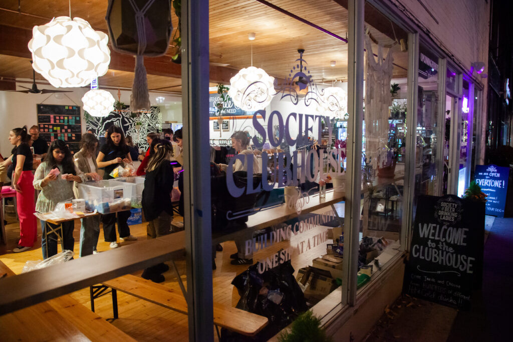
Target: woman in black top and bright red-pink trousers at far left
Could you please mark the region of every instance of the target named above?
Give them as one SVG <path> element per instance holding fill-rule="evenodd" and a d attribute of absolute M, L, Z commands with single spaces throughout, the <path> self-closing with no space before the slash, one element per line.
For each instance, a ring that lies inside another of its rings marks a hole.
<path fill-rule="evenodd" d="M 13 172 L 11 177 L 12 187 L 16 190 L 16 210 L 19 217 L 19 242 L 14 253 L 29 250 L 37 240 L 37 221 L 34 216 L 34 187 L 32 182 L 33 156 L 28 145 L 32 137 L 27 134 L 27 126 L 13 128 L 9 132 L 9 142 L 14 145 L 12 154 L 3 165 L 8 167 L 12 164 Z"/>

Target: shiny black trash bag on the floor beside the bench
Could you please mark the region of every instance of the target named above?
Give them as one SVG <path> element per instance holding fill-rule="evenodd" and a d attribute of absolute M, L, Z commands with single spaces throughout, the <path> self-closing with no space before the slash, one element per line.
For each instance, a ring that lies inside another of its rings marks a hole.
<path fill-rule="evenodd" d="M 236 276 L 232 285 L 241 299 L 236 308 L 265 316 L 269 324 L 256 336 L 247 337 L 222 329 L 222 341 L 267 341 L 308 310 L 303 291 L 294 278 L 290 260 L 260 274 L 258 263 Z"/>

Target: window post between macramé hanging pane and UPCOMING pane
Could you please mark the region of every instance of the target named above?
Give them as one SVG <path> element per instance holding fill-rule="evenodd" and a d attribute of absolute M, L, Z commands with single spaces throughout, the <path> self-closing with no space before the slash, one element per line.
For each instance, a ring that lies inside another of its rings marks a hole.
<path fill-rule="evenodd" d="M 407 155 L 404 170 L 404 210 L 401 225 L 401 249 L 409 250 L 410 227 L 413 221 L 413 198 L 415 196 L 415 162 L 417 151 L 417 110 L 419 86 L 419 34 L 408 34 L 408 99 L 406 111 L 406 146 Z"/>

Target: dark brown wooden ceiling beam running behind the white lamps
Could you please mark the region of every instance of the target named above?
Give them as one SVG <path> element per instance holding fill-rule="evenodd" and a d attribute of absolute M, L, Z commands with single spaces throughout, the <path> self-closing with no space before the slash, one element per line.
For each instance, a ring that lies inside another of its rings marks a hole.
<path fill-rule="evenodd" d="M 0 54 L 31 58 L 32 54 L 28 49 L 31 38 L 31 30 L 0 25 L 0 42 L 2 42 L 0 44 Z M 173 63 L 168 55 L 147 57 L 144 59 L 144 66 L 148 75 L 182 77 L 182 66 Z M 111 49 L 109 69 L 133 72 L 134 68 L 134 56 L 117 53 Z M 211 65 L 209 80 L 211 83 L 229 84 L 230 78 L 238 71 L 238 69 Z"/>

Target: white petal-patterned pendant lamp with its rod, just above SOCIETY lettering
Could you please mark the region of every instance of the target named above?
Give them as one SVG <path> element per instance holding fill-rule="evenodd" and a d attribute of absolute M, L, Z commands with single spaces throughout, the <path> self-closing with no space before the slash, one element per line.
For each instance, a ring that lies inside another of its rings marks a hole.
<path fill-rule="evenodd" d="M 253 41 L 255 34 L 248 33 L 248 39 Z M 264 69 L 253 67 L 253 44 L 251 44 L 251 66 L 241 69 L 230 78 L 228 95 L 236 107 L 254 112 L 264 109 L 274 95 L 274 77 L 269 76 Z"/>

